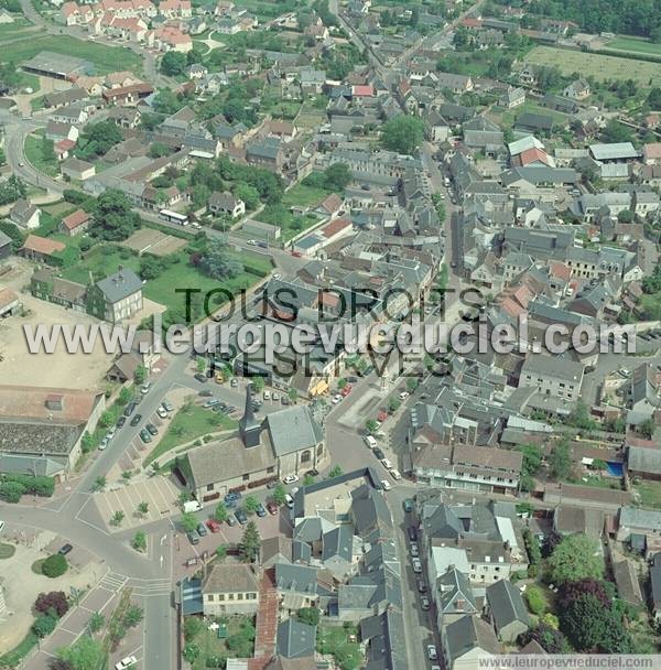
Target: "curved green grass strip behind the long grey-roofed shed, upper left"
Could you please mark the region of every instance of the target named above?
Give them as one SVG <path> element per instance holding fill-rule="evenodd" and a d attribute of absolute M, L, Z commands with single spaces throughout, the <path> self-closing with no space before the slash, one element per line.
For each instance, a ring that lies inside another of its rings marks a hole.
<path fill-rule="evenodd" d="M 68 35 L 45 35 L 6 44 L 2 46 L 2 60 L 22 63 L 41 51 L 52 51 L 90 61 L 97 74 L 120 69 L 130 69 L 134 73 L 142 71 L 142 61 L 130 48 L 84 42 Z"/>

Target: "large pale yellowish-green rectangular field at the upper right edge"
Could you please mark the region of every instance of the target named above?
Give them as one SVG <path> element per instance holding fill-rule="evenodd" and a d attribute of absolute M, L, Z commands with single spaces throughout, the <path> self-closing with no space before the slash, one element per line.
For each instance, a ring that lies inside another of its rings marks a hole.
<path fill-rule="evenodd" d="M 567 76 L 581 73 L 599 80 L 633 79 L 646 87 L 650 86 L 650 82 L 657 86 L 661 84 L 661 63 L 631 61 L 619 56 L 537 46 L 525 56 L 525 63 L 555 66 Z"/>

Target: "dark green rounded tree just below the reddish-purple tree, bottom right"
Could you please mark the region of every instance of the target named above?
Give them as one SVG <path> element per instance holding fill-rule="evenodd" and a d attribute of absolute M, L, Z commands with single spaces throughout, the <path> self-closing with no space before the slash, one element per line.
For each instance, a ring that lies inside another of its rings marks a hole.
<path fill-rule="evenodd" d="M 577 651 L 629 653 L 631 637 L 622 616 L 614 607 L 604 607 L 589 593 L 572 601 L 560 613 L 560 627 Z"/>

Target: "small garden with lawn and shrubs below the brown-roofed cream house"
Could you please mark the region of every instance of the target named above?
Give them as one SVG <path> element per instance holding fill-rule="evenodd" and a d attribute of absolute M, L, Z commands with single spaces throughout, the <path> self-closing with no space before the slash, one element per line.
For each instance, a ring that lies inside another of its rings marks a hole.
<path fill-rule="evenodd" d="M 193 638 L 202 653 L 192 664 L 193 670 L 220 668 L 220 664 L 207 664 L 209 659 L 252 658 L 254 653 L 254 619 L 252 616 L 234 615 L 215 617 L 219 625 L 227 626 L 227 637 L 219 638 L 215 630 L 206 626 Z M 223 663 L 223 667 L 225 663 Z"/>

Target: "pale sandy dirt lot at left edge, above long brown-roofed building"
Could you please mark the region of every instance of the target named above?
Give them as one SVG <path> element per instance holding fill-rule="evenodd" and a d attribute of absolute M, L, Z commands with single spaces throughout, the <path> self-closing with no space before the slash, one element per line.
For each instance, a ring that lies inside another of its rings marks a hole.
<path fill-rule="evenodd" d="M 79 312 L 72 312 L 30 295 L 26 287 L 34 266 L 24 259 L 12 257 L 12 270 L 0 278 L 0 287 L 20 293 L 28 316 L 9 316 L 0 320 L 0 379 L 25 386 L 47 386 L 73 389 L 98 388 L 112 361 L 99 341 L 90 354 L 68 354 L 58 342 L 53 354 L 30 354 L 23 326 L 35 328 L 37 324 L 85 326 L 97 320 Z M 46 375 L 47 371 L 47 375 Z"/>

